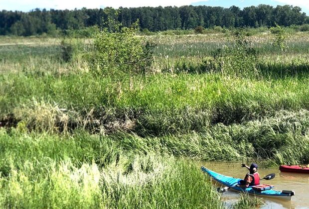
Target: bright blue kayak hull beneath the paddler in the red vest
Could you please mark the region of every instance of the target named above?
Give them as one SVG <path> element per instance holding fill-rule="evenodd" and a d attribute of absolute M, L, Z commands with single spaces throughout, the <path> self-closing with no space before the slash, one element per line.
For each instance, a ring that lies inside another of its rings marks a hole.
<path fill-rule="evenodd" d="M 216 173 L 214 171 L 211 171 L 204 166 L 201 167 L 202 171 L 207 173 L 214 181 L 226 186 L 226 187 L 233 187 L 231 190 L 237 191 L 237 192 L 243 192 L 248 193 L 249 195 L 255 195 L 260 197 L 267 197 L 267 198 L 279 198 L 284 200 L 291 201 L 292 196 L 295 195 L 294 191 L 276 191 L 273 189 L 265 190 L 265 191 L 256 191 L 251 187 L 248 188 L 242 188 L 239 186 L 236 186 L 239 184 L 240 180 L 238 178 L 233 178 L 230 176 L 225 176 L 219 173 Z M 236 187 L 234 187 L 236 186 Z"/>

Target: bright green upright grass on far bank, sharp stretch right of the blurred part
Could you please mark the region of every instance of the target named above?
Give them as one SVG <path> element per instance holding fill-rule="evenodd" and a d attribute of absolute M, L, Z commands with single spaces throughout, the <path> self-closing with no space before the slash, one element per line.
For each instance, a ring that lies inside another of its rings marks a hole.
<path fill-rule="evenodd" d="M 112 126 L 130 120 L 131 130 L 142 135 L 200 131 L 218 122 L 241 123 L 282 109 L 306 109 L 307 83 L 307 78 L 255 80 L 220 74 L 140 77 L 123 82 L 112 95 L 103 90 L 103 97 L 113 101 L 106 104 L 108 119 L 103 122 Z"/>

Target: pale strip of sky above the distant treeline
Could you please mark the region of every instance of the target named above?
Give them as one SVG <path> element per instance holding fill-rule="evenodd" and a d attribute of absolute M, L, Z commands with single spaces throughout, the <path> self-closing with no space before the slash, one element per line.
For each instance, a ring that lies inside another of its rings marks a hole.
<path fill-rule="evenodd" d="M 258 4 L 300 6 L 309 15 L 309 0 L 0 0 L 0 10 L 29 11 L 34 8 L 74 9 L 74 8 L 114 8 L 139 6 L 182 6 L 210 5 L 241 8 Z"/>

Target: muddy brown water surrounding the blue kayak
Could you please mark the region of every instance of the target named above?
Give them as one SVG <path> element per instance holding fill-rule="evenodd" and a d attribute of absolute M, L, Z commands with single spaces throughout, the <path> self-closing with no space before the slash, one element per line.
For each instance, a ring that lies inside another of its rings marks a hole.
<path fill-rule="evenodd" d="M 242 168 L 240 163 L 227 162 L 200 162 L 206 168 L 218 172 L 223 175 L 235 178 L 244 178 L 248 170 Z M 250 165 L 249 165 L 250 166 Z M 271 198 L 263 198 L 265 205 L 262 209 L 309 209 L 309 174 L 297 174 L 280 172 L 279 168 L 263 168 L 258 169 L 261 178 L 267 174 L 275 173 L 276 177 L 263 183 L 274 185 L 276 190 L 293 190 L 295 196 L 292 201 L 277 200 Z M 262 183 L 262 182 L 261 182 Z M 239 198 L 239 193 L 228 191 L 222 194 L 222 200 L 231 205 Z"/>

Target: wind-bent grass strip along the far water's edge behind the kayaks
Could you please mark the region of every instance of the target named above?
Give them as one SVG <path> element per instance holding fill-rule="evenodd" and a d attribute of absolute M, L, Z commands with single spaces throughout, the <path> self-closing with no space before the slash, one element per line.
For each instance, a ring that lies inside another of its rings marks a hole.
<path fill-rule="evenodd" d="M 204 127 L 198 132 L 140 137 L 117 133 L 109 138 L 126 150 L 157 150 L 206 161 L 268 160 L 269 165 L 309 163 L 309 112 L 278 111 L 272 117 Z"/>

